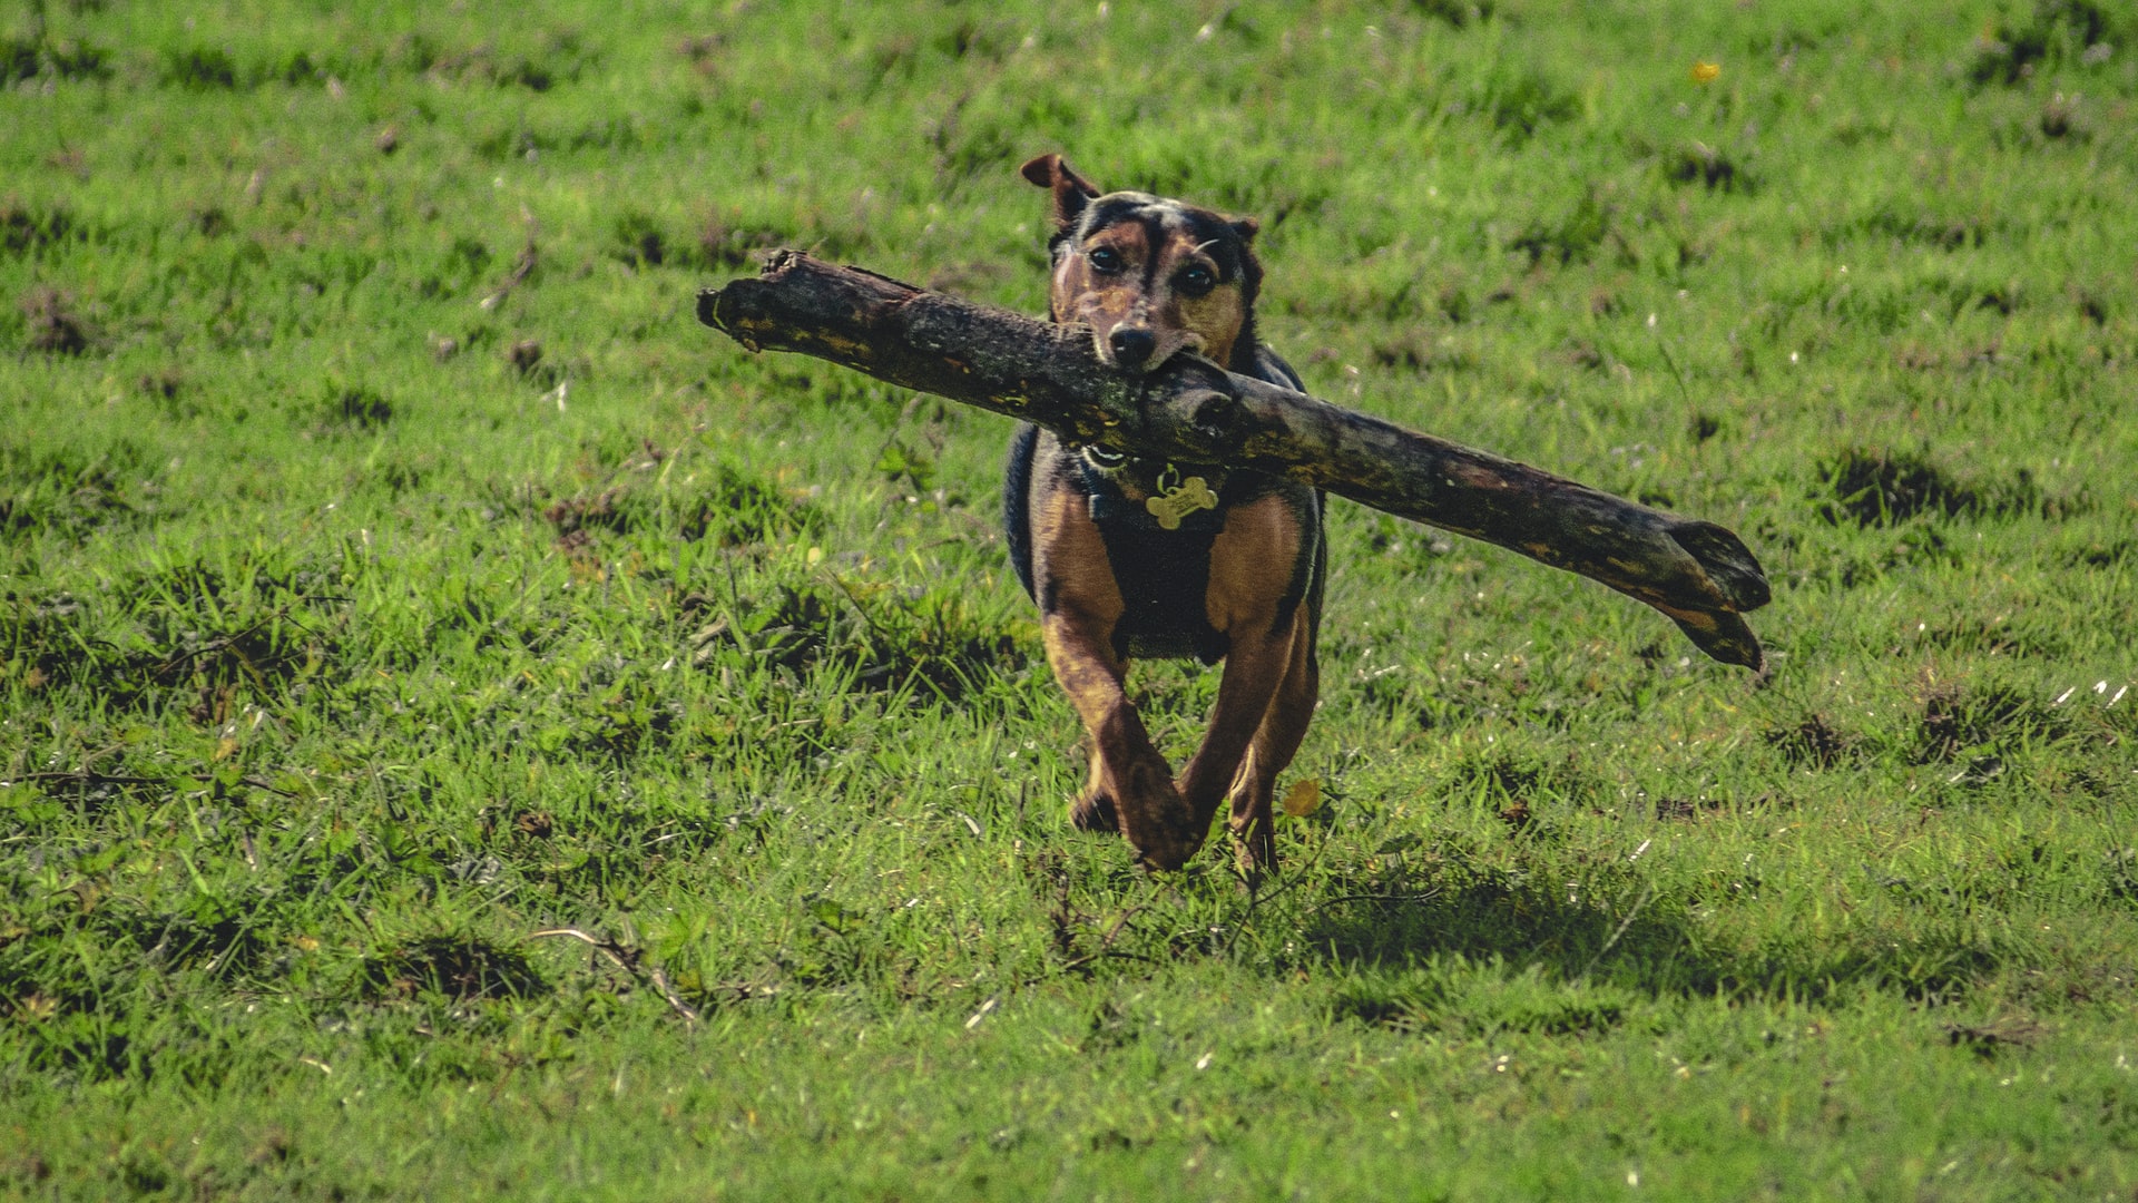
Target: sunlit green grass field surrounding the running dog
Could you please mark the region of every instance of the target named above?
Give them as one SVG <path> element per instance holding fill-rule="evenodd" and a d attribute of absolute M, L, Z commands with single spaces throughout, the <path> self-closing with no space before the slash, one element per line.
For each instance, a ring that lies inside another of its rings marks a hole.
<path fill-rule="evenodd" d="M 338 9 L 0 9 L 6 1197 L 2138 1192 L 2138 15 Z M 1772 683 L 1338 503 L 1281 882 L 1069 831 L 1007 422 L 691 319 L 1045 150 Z"/>

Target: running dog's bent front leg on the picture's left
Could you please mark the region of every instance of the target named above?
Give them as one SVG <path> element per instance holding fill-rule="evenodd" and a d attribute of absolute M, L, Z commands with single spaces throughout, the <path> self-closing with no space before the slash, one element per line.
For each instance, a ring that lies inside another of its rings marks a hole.
<path fill-rule="evenodd" d="M 1178 869 L 1202 848 L 1210 816 L 1191 822 L 1174 790 L 1172 768 L 1150 745 L 1142 715 L 1129 702 L 1125 666 L 1097 623 L 1056 610 L 1041 625 L 1048 664 L 1090 732 L 1090 781 L 1071 820 L 1086 831 L 1118 824 L 1137 856 L 1157 869 Z"/>

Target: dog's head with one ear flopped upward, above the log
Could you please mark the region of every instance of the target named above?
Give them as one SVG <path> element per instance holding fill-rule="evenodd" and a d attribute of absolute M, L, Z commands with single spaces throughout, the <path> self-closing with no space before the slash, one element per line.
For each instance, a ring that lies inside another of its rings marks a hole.
<path fill-rule="evenodd" d="M 1090 325 L 1099 357 L 1148 372 L 1176 351 L 1236 372 L 1255 364 L 1255 218 L 1148 193 L 1105 193 L 1058 154 L 1022 167 L 1054 193 L 1050 317 Z"/>

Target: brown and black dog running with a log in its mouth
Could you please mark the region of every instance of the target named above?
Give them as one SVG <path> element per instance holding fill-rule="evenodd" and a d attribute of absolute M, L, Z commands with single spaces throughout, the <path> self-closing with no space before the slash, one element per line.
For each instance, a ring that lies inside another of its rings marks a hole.
<path fill-rule="evenodd" d="M 1101 195 L 1054 154 L 1022 173 L 1054 195 L 1048 317 L 1088 325 L 1101 360 L 1150 372 L 1195 353 L 1300 387 L 1255 340 L 1255 220 Z M 1120 831 L 1146 865 L 1176 869 L 1229 796 L 1242 869 L 1251 880 L 1274 869 L 1270 801 L 1319 689 L 1321 512 L 1317 490 L 1287 479 L 1018 428 L 1003 522 L 1048 664 L 1090 732 L 1090 781 L 1071 809 L 1080 828 Z M 1202 749 L 1174 779 L 1125 679 L 1131 657 L 1189 655 L 1223 659 L 1225 679 Z"/>

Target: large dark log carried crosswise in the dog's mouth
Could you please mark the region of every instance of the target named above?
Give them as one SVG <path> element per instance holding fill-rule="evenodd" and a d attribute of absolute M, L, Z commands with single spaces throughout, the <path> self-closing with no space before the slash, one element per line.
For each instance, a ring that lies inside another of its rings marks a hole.
<path fill-rule="evenodd" d="M 1174 355 L 1131 375 L 1090 332 L 983 308 L 859 268 L 778 250 L 757 278 L 697 295 L 697 317 L 750 351 L 800 351 L 1048 426 L 1071 443 L 1225 465 L 1349 497 L 1512 548 L 1655 606 L 1700 651 L 1766 672 L 1742 614 L 1768 602 L 1730 531 Z"/>

